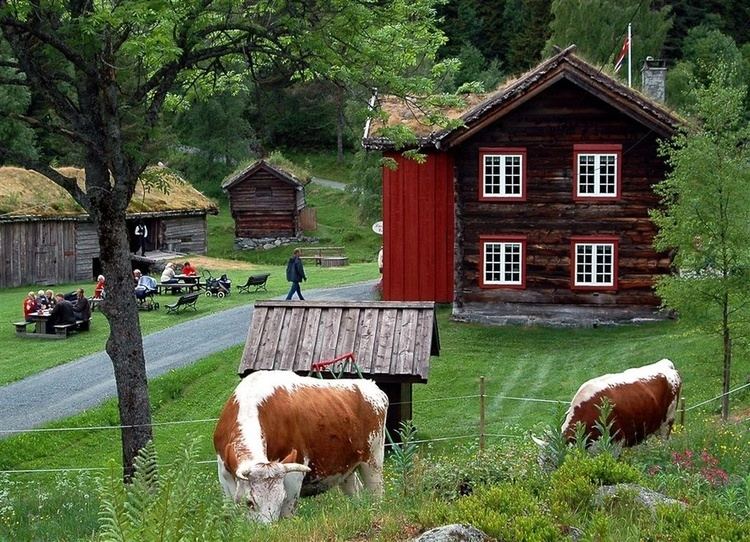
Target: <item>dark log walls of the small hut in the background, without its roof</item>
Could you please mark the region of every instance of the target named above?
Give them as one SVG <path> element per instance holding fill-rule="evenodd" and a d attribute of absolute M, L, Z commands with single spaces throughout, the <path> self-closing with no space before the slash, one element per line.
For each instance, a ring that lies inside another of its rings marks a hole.
<path fill-rule="evenodd" d="M 299 232 L 298 191 L 260 169 L 229 188 L 237 237 L 294 236 Z"/>

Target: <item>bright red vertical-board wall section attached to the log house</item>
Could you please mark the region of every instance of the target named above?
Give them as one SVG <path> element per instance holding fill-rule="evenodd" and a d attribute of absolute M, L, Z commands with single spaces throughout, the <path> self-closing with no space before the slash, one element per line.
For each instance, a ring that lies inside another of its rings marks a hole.
<path fill-rule="evenodd" d="M 383 168 L 383 299 L 453 301 L 453 160 L 429 154 L 418 164 L 387 153 Z"/>

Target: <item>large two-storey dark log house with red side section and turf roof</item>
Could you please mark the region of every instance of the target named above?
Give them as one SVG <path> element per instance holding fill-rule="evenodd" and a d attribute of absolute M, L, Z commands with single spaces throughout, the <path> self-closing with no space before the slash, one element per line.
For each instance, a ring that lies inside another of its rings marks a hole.
<path fill-rule="evenodd" d="M 569 47 L 489 95 L 446 109 L 384 97 L 363 145 L 383 168 L 385 300 L 453 304 L 459 320 L 596 325 L 663 316 L 670 255 L 649 209 L 662 139 L 682 121 Z M 423 163 L 384 128 L 405 125 Z"/>

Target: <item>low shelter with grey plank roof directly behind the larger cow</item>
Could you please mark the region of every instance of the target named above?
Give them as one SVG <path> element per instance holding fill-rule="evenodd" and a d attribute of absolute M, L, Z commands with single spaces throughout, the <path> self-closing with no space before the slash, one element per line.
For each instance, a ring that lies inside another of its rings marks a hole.
<path fill-rule="evenodd" d="M 313 363 L 348 352 L 362 376 L 388 394 L 386 423 L 393 434 L 399 422 L 411 419 L 412 384 L 427 383 L 430 356 L 440 354 L 435 304 L 258 301 L 238 373 L 276 369 L 306 375 Z"/>

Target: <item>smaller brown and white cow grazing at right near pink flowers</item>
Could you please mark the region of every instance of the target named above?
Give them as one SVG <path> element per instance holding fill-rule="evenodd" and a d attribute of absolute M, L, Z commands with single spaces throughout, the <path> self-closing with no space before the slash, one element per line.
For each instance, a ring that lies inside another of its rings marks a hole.
<path fill-rule="evenodd" d="M 594 424 L 606 397 L 613 405 L 610 421 L 614 439 L 622 445 L 633 446 L 655 433 L 668 436 L 681 386 L 682 379 L 668 359 L 593 378 L 578 388 L 570 402 L 562 434 L 573 440 L 580 422 L 592 439 L 599 438 Z"/>

